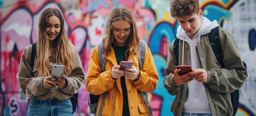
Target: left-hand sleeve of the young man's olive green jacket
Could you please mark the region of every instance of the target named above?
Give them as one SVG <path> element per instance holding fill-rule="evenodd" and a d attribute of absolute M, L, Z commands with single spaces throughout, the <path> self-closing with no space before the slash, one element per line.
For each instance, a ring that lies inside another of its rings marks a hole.
<path fill-rule="evenodd" d="M 176 85 L 173 81 L 173 77 L 174 77 L 173 73 L 176 69 L 176 65 L 178 65 L 177 59 L 173 51 L 173 44 L 174 44 L 174 40 L 168 49 L 166 74 L 165 74 L 166 76 L 164 78 L 163 84 L 169 94 L 176 95 L 180 89 L 180 86 Z"/>

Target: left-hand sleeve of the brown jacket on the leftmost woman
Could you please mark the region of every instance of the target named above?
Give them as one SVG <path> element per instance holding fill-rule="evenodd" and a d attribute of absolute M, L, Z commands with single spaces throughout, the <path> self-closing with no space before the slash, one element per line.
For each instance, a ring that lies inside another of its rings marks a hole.
<path fill-rule="evenodd" d="M 33 73 L 33 67 L 31 67 L 31 49 L 32 45 L 27 46 L 23 51 L 20 58 L 20 66 L 18 72 L 19 84 L 26 94 L 28 91 L 33 93 L 34 96 L 43 95 L 47 92 L 48 89 L 43 87 L 43 78 L 45 77 L 34 77 L 31 74 Z M 36 88 L 39 88 L 38 90 Z M 37 90 L 35 92 L 32 92 Z M 29 94 L 31 96 L 31 94 Z"/>

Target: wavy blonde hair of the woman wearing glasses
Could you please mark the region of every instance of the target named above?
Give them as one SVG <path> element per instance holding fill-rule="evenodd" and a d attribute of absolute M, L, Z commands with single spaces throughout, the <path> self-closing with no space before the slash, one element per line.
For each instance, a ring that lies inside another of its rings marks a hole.
<path fill-rule="evenodd" d="M 128 52 L 129 54 L 139 56 L 139 31 L 136 25 L 135 17 L 133 16 L 132 12 L 126 7 L 117 7 L 116 9 L 113 9 L 108 15 L 108 18 L 106 19 L 105 33 L 103 34 L 103 39 L 101 41 L 103 56 L 108 56 L 110 54 L 111 44 L 115 43 L 112 29 L 116 24 L 117 20 L 126 20 L 130 24 L 132 29 L 132 32 L 126 40 L 126 53 Z"/>

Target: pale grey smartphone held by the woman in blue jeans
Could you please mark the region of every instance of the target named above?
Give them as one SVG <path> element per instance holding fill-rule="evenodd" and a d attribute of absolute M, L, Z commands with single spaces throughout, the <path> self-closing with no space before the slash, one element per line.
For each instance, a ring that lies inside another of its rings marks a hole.
<path fill-rule="evenodd" d="M 64 74 L 64 68 L 65 65 L 52 65 L 51 76 L 62 78 L 61 74 Z M 55 78 L 50 78 L 50 80 L 51 79 L 55 80 Z"/>

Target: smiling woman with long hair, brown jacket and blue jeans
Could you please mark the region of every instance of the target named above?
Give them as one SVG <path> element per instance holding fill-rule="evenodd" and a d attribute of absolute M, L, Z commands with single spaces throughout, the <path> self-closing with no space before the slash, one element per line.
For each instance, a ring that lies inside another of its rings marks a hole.
<path fill-rule="evenodd" d="M 18 73 L 20 87 L 30 99 L 27 116 L 72 116 L 70 97 L 78 93 L 84 71 L 58 9 L 48 8 L 41 13 L 34 61 L 31 51 L 32 45 L 23 50 Z M 52 65 L 65 65 L 62 77 L 51 76 Z"/>

